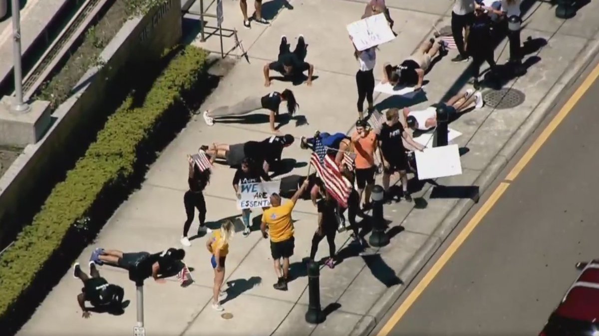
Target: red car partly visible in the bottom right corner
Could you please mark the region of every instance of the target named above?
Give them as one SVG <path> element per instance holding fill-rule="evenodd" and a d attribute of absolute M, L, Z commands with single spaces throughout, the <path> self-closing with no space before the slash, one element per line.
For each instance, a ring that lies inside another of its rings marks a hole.
<path fill-rule="evenodd" d="M 581 270 L 539 336 L 599 336 L 599 259 L 579 262 Z"/>

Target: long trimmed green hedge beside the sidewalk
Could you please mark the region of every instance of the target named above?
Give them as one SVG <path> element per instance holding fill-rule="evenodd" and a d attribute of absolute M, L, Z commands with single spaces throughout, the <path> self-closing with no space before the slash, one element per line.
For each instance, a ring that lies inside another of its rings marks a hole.
<path fill-rule="evenodd" d="M 134 106 L 135 99 L 129 96 L 108 118 L 65 181 L 53 188 L 32 224 L 23 228 L 14 245 L 0 256 L 0 316 L 28 291 L 46 262 L 60 253 L 69 232 L 85 225 L 82 219 L 102 193 L 133 176 L 140 145 L 149 140 L 165 112 L 177 105 L 181 93 L 196 84 L 206 61 L 204 50 L 183 48 L 140 106 Z"/>

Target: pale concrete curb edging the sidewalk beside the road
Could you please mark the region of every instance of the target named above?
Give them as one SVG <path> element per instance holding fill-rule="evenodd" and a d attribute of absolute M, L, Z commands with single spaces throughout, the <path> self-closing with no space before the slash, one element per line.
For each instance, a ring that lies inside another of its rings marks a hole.
<path fill-rule="evenodd" d="M 595 55 L 599 53 L 599 33 L 589 39 L 586 46 L 574 60 L 574 66 L 564 72 L 558 78 L 553 87 L 543 97 L 539 105 L 537 105 L 528 118 L 518 127 L 512 137 L 506 142 L 501 150 L 495 155 L 491 162 L 480 173 L 479 177 L 474 181 L 473 185 L 479 186 L 479 195 L 482 195 L 497 178 L 501 170 L 507 163 L 516 155 L 516 152 L 524 145 L 528 138 L 536 132 L 537 127 L 546 117 L 547 113 L 558 103 L 558 99 L 565 88 L 574 84 L 580 74 L 592 62 Z M 470 199 L 461 199 L 456 206 L 450 210 L 447 216 L 437 226 L 432 235 L 426 240 L 424 245 L 415 253 L 415 255 L 407 263 L 399 273 L 398 277 L 403 283 L 394 288 L 387 289 L 380 299 L 368 310 L 368 313 L 358 322 L 352 336 L 367 336 L 376 325 L 382 322 L 385 314 L 394 306 L 398 298 L 406 290 L 406 287 L 415 279 L 416 275 L 432 258 L 444 240 L 458 225 L 459 221 L 466 215 L 468 210 L 474 206 L 474 202 Z"/>

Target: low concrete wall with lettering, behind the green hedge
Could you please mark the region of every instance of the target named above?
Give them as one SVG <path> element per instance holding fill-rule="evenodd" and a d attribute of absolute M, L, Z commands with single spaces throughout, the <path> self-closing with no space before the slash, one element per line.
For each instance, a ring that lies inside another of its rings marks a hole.
<path fill-rule="evenodd" d="M 102 100 L 111 80 L 126 71 L 129 62 L 158 59 L 165 48 L 181 39 L 181 0 L 168 0 L 144 17 L 125 23 L 102 51 L 104 65 L 87 71 L 77 91 L 53 113 L 54 123 L 35 145 L 29 145 L 0 178 L 0 242 L 10 231 L 20 230 L 28 198 L 45 173 L 60 166 L 66 144 L 77 141 L 77 130 L 102 111 Z"/>

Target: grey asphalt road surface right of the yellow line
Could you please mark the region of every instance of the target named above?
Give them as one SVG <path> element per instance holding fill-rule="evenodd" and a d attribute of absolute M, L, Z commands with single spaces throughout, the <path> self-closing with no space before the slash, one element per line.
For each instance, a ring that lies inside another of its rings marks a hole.
<path fill-rule="evenodd" d="M 598 112 L 595 81 L 389 335 L 538 335 L 599 258 Z"/>

